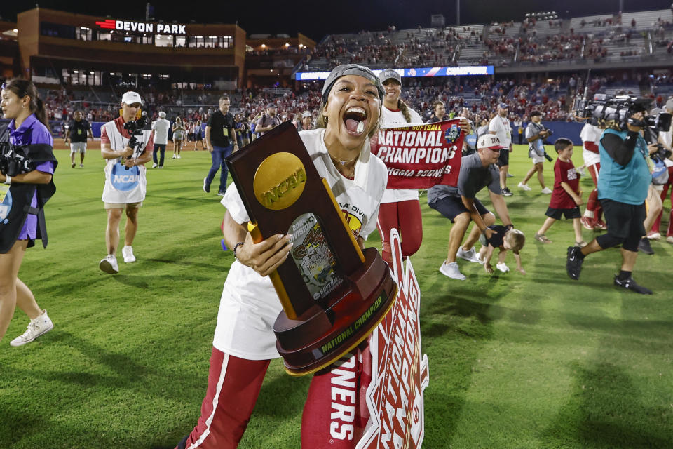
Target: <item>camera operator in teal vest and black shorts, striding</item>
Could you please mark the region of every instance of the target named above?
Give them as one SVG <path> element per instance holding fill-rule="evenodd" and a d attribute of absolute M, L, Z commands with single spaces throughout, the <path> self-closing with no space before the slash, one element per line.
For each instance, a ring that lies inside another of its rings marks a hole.
<path fill-rule="evenodd" d="M 566 270 L 571 279 L 579 279 L 584 258 L 591 253 L 621 245 L 622 267 L 614 284 L 637 293 L 651 295 L 652 290 L 639 286 L 632 277 L 638 247 L 645 235 L 645 199 L 652 184 L 648 167 L 648 147 L 641 135 L 645 123 L 646 104 L 635 102 L 630 108 L 626 130 L 606 128 L 599 143 L 601 176 L 598 198 L 603 206 L 608 232 L 592 240 L 584 248 L 568 248 Z"/>

